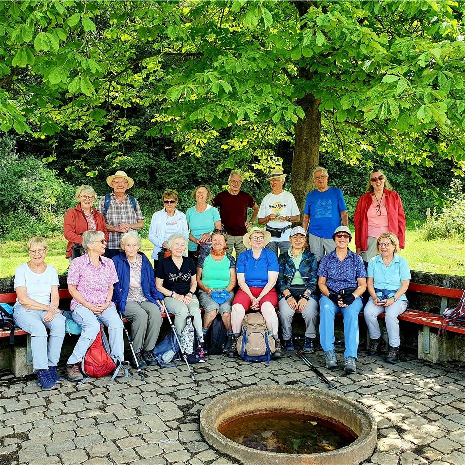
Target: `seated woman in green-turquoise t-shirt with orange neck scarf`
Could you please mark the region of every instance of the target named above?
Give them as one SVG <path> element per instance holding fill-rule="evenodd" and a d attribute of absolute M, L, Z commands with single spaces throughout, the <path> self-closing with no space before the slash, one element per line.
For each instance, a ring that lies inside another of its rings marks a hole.
<path fill-rule="evenodd" d="M 234 299 L 234 288 L 237 284 L 235 258 L 226 253 L 227 233 L 224 229 L 214 229 L 211 236 L 209 254 L 201 255 L 197 264 L 198 300 L 205 310 L 203 317 L 203 338 L 218 312 L 221 315 L 227 332 L 224 352 L 232 342 L 231 311 Z M 214 291 L 227 291 L 224 302 L 214 295 Z M 213 292 L 213 295 L 212 295 Z"/>

